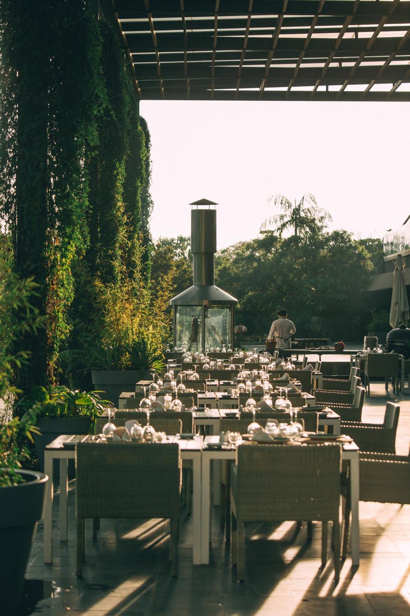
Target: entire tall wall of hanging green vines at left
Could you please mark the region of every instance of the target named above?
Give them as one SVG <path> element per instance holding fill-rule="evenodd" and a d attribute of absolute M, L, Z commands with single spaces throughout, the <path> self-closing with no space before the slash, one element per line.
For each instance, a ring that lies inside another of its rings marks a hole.
<path fill-rule="evenodd" d="M 86 4 L 0 2 L 2 230 L 15 270 L 41 285 L 33 301 L 47 317 L 44 332 L 21 342 L 32 355 L 23 388 L 60 377 L 78 305 L 83 320 L 94 318 L 95 278 L 118 278 L 124 225 L 143 237 L 149 270 L 149 134 L 116 33 Z"/>

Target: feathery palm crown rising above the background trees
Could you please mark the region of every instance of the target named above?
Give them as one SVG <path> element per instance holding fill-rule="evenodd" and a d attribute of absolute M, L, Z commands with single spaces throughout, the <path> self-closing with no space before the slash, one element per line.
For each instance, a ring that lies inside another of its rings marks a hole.
<path fill-rule="evenodd" d="M 320 232 L 326 222 L 332 220 L 329 212 L 320 208 L 310 193 L 303 195 L 299 203 L 296 203 L 296 200 L 292 203 L 283 195 L 268 199 L 269 202 L 272 200 L 274 208 L 279 208 L 280 213 L 263 221 L 260 233 L 278 233 L 279 237 L 282 237 L 284 231 L 292 229 L 292 235 L 295 241 L 298 241 L 303 235 Z"/>

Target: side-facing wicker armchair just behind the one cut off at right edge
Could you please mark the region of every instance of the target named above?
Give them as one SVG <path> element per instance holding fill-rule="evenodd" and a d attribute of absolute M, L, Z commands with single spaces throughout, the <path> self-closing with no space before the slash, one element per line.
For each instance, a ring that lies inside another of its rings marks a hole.
<path fill-rule="evenodd" d="M 396 432 L 400 406 L 386 403 L 382 424 L 340 421 L 343 434 L 351 436 L 363 452 L 396 453 Z"/>

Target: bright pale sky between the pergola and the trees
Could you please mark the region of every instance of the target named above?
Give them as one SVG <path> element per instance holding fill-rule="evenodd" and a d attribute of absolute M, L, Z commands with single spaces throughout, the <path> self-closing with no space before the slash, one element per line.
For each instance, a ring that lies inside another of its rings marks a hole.
<path fill-rule="evenodd" d="M 331 229 L 382 237 L 410 214 L 409 103 L 140 103 L 152 139 L 153 238 L 190 235 L 216 201 L 218 249 L 257 237 L 270 195 L 310 192 Z"/>

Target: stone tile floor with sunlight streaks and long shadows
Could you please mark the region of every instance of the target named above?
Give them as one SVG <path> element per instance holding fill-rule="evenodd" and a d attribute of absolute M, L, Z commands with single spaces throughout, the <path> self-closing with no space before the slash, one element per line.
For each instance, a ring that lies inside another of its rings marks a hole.
<path fill-rule="evenodd" d="M 363 421 L 382 421 L 387 399 L 400 400 L 397 453 L 407 454 L 410 440 L 410 396 L 385 395 L 373 384 Z M 295 524 L 252 524 L 247 528 L 246 582 L 237 583 L 229 546 L 212 525 L 211 564 L 194 567 L 191 519 L 182 511 L 179 576 L 172 578 L 167 525 L 161 520 L 102 520 L 98 540 L 86 538 L 84 577 L 74 575 L 74 487 L 70 482 L 69 537 L 58 539 L 55 499 L 54 562 L 42 562 L 39 524 L 26 574 L 18 616 L 62 614 L 90 616 L 404 616 L 410 615 L 410 505 L 361 503 L 361 562 L 348 558 L 340 582 L 333 581 L 329 560 L 320 569 L 321 533 L 312 543 Z M 1 601 L 0 601 L 1 613 Z M 8 615 L 2 615 L 8 616 Z"/>

